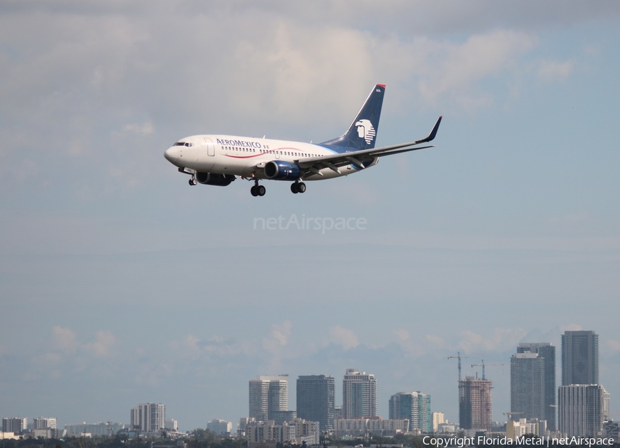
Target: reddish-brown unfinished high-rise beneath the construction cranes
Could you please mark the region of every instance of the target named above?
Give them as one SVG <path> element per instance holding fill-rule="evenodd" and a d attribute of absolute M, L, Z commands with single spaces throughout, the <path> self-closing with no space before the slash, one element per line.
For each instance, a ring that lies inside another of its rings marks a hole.
<path fill-rule="evenodd" d="M 490 431 L 493 416 L 491 387 L 493 381 L 466 376 L 459 381 L 459 426 L 462 429 Z"/>

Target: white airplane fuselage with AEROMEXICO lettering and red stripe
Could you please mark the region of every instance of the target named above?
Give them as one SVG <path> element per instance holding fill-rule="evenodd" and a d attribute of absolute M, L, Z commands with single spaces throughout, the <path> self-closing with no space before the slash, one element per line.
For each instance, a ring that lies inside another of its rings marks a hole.
<path fill-rule="evenodd" d="M 201 173 L 264 179 L 262 169 L 257 167 L 264 166 L 270 160 L 286 160 L 293 163 L 300 159 L 331 156 L 335 153 L 331 149 L 304 142 L 202 135 L 179 140 L 165 151 L 165 158 L 179 168 L 188 168 Z M 321 169 L 320 174 L 304 177 L 304 180 L 337 178 L 358 171 L 360 170 L 353 165 L 340 167 L 340 173 L 326 168 Z"/>

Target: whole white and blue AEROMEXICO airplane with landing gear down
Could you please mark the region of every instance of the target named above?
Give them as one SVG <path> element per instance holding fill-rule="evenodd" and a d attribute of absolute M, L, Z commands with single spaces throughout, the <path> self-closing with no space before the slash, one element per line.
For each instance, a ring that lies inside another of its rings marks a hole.
<path fill-rule="evenodd" d="M 254 181 L 250 193 L 264 196 L 260 180 L 291 182 L 293 193 L 304 193 L 304 181 L 338 178 L 374 167 L 380 157 L 432 148 L 417 146 L 435 138 L 442 117 L 431 133 L 421 140 L 375 148 L 385 85 L 377 84 L 362 109 L 342 136 L 313 145 L 287 140 L 271 140 L 225 135 L 182 138 L 166 149 L 164 157 L 189 174 L 189 185 L 227 186 L 236 178 Z"/>

